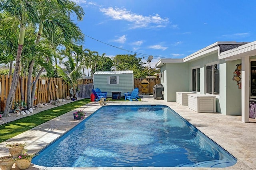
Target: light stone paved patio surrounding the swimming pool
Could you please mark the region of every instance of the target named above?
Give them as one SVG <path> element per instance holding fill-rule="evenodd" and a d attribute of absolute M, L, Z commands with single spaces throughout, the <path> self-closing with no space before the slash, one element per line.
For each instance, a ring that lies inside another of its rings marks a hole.
<path fill-rule="evenodd" d="M 51 168 L 31 164 L 28 170 L 256 170 L 256 121 L 250 119 L 250 123 L 243 123 L 241 116 L 225 116 L 220 113 L 196 113 L 188 106 L 181 106 L 176 102 L 164 102 L 154 100 L 153 96 L 144 96 L 142 102 L 109 102 L 108 105 L 132 105 L 132 104 L 162 104 L 169 106 L 179 115 L 184 117 L 192 125 L 218 143 L 225 150 L 238 159 L 237 164 L 227 168 L 161 168 L 161 167 L 100 167 L 100 168 Z M 90 102 L 77 110 L 82 109 L 92 114 L 101 106 L 98 102 Z M 74 127 L 79 120 L 74 120 L 73 111 L 56 117 L 38 127 L 26 131 L 16 137 L 0 143 L 0 156 L 8 155 L 6 143 L 26 142 L 25 147 L 30 152 L 36 153 L 49 143 L 60 137 L 63 133 Z M 12 170 L 18 170 L 13 166 Z"/>

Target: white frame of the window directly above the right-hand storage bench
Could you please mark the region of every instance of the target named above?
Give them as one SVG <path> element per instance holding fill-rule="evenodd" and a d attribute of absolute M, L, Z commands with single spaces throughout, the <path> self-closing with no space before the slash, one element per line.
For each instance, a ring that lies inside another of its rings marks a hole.
<path fill-rule="evenodd" d="M 217 65 L 217 70 L 214 69 L 214 65 Z M 207 72 L 207 67 L 208 66 L 212 66 L 212 77 L 211 77 L 211 88 L 212 88 L 212 93 L 209 93 L 208 91 L 208 72 Z M 215 78 L 216 78 L 216 71 L 218 71 L 218 92 L 215 92 L 216 91 L 216 87 L 215 87 Z M 206 64 L 205 66 L 205 90 L 206 90 L 206 94 L 209 94 L 209 95 L 216 95 L 216 96 L 219 96 L 220 95 L 220 63 L 219 62 L 214 62 L 214 63 L 209 63 L 209 64 Z"/>

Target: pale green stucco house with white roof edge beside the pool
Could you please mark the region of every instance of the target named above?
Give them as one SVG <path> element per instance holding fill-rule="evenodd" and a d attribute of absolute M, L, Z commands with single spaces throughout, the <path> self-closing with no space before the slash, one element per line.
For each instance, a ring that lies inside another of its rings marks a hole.
<path fill-rule="evenodd" d="M 249 102 L 256 98 L 256 41 L 216 42 L 183 59 L 160 59 L 156 67 L 165 101 L 176 102 L 176 92 L 214 96 L 216 112 L 249 122 Z"/>

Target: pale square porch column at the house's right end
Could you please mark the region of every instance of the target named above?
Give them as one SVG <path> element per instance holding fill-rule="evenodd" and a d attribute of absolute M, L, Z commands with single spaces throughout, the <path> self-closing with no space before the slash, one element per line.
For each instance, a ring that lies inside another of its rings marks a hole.
<path fill-rule="evenodd" d="M 249 122 L 249 100 L 250 100 L 250 57 L 242 57 L 242 122 Z"/>

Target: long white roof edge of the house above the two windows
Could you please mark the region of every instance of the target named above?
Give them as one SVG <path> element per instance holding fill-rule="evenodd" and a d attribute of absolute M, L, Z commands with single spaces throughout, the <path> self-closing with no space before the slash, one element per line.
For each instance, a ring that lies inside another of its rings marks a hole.
<path fill-rule="evenodd" d="M 238 46 L 243 46 L 247 43 L 248 42 L 217 41 L 216 43 L 200 49 L 199 51 L 196 51 L 195 53 L 188 55 L 183 59 L 160 59 L 158 63 L 156 63 L 156 67 L 161 67 L 165 63 L 185 63 L 195 61 L 214 53 L 220 53 L 222 51 L 228 51 L 229 49 L 236 48 Z"/>

